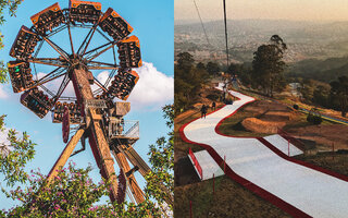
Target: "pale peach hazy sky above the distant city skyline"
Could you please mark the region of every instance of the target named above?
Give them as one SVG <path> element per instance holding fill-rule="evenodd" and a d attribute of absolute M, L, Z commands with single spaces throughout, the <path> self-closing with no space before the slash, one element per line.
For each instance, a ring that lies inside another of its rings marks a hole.
<path fill-rule="evenodd" d="M 223 20 L 222 0 L 196 0 L 203 22 Z M 347 0 L 226 0 L 228 20 L 348 21 Z M 175 21 L 199 21 L 194 1 L 175 0 Z"/>

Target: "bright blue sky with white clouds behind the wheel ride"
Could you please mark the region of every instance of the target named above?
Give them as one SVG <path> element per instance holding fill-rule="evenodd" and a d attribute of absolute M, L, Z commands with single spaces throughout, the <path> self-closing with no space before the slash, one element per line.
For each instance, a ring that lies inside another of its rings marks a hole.
<path fill-rule="evenodd" d="M 9 56 L 11 45 L 21 25 L 32 26 L 29 17 L 57 1 L 25 0 L 18 8 L 16 17 L 5 16 L 7 23 L 1 26 L 4 35 L 4 49 L 0 51 L 0 60 L 8 62 L 13 60 Z M 67 8 L 69 1 L 58 1 L 61 8 Z M 156 142 L 157 137 L 165 135 L 169 131 L 162 118 L 161 107 L 173 101 L 173 57 L 174 57 L 174 4 L 173 0 L 128 0 L 128 1 L 99 1 L 102 11 L 113 8 L 133 27 L 132 35 L 140 40 L 144 68 L 138 69 L 140 80 L 130 94 L 132 112 L 125 117 L 128 120 L 139 120 L 140 140 L 135 144 L 140 156 L 148 160 L 148 145 Z M 77 32 L 75 32 L 77 33 Z M 78 32 L 75 41 L 84 37 L 85 32 Z M 74 33 L 73 33 L 74 34 Z M 63 34 L 64 36 L 64 34 Z M 54 38 L 58 45 L 69 48 L 67 38 Z M 53 39 L 52 39 L 53 40 Z M 91 44 L 99 46 L 102 43 L 96 37 Z M 98 44 L 101 43 L 101 44 Z M 46 48 L 46 47 L 42 47 Z M 42 55 L 57 57 L 49 48 Z M 38 70 L 48 73 L 48 69 Z M 54 84 L 53 84 L 54 85 Z M 36 146 L 35 160 L 28 165 L 29 169 L 40 168 L 42 173 L 48 173 L 54 161 L 64 148 L 61 134 L 61 124 L 51 122 L 49 114 L 39 119 L 27 108 L 20 104 L 20 94 L 13 94 L 10 85 L 0 85 L 0 114 L 8 114 L 7 128 L 15 128 L 17 131 L 26 131 Z M 79 148 L 77 145 L 76 148 Z M 95 164 L 89 146 L 87 149 L 71 158 L 78 167 L 86 167 L 90 162 L 95 170 L 92 178 L 100 180 L 99 170 Z M 119 171 L 116 167 L 116 171 Z M 137 175 L 140 184 L 144 180 Z M 1 177 L 0 177 L 1 179 Z M 13 202 L 0 194 L 1 208 L 13 206 Z"/>

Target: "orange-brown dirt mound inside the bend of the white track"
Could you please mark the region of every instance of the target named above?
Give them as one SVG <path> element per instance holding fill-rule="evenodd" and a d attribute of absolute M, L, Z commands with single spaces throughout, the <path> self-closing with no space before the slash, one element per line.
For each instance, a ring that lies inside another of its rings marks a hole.
<path fill-rule="evenodd" d="M 257 118 L 247 118 L 241 121 L 243 126 L 251 132 L 257 133 L 277 133 L 277 128 L 283 128 L 285 122 L 269 122 Z"/>

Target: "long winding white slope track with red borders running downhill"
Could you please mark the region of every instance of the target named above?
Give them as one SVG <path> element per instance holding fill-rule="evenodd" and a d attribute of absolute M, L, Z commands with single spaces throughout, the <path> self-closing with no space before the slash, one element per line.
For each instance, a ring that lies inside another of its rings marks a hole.
<path fill-rule="evenodd" d="M 229 94 L 238 100 L 183 125 L 183 140 L 204 147 L 220 166 L 225 157 L 229 178 L 294 217 L 347 217 L 347 177 L 284 157 L 264 138 L 219 133 L 223 119 L 254 100 L 235 90 Z"/>

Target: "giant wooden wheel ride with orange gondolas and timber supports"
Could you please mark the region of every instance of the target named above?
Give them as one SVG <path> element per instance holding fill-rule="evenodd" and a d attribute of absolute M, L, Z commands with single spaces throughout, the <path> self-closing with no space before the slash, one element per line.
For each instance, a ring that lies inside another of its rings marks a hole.
<path fill-rule="evenodd" d="M 126 100 L 139 80 L 132 70 L 141 65 L 139 40 L 136 36 L 129 36 L 133 27 L 111 8 L 103 13 L 101 3 L 77 0 L 71 0 L 69 9 L 61 9 L 59 3 L 54 3 L 30 20 L 34 25 L 30 28 L 22 26 L 13 43 L 10 56 L 15 60 L 10 61 L 8 68 L 13 92 L 24 92 L 21 104 L 39 118 L 51 111 L 53 123 L 62 123 L 63 142 L 69 143 L 49 172 L 48 180 L 57 175 L 69 157 L 85 148 L 88 138 L 101 175 L 111 180 L 111 201 L 121 203 L 127 193 L 130 199 L 141 203 L 144 192 L 134 172 L 139 171 L 145 177 L 150 168 L 133 148 L 139 138 L 139 124 L 123 118 L 130 110 L 129 102 L 113 100 Z M 89 29 L 77 50 L 73 44 L 72 28 Z M 53 35 L 64 29 L 69 33 L 66 41 L 70 41 L 71 53 L 51 40 Z M 108 43 L 88 50 L 96 33 Z M 58 58 L 38 58 L 45 43 L 57 51 Z M 119 63 L 115 47 L 119 48 Z M 113 51 L 113 63 L 96 60 L 108 50 Z M 54 66 L 54 70 L 39 78 L 36 64 Z M 104 84 L 94 76 L 94 70 L 111 70 Z M 63 80 L 57 93 L 45 86 L 59 77 Z M 63 97 L 70 82 L 75 97 Z M 94 84 L 99 88 L 92 90 Z M 71 129 L 71 124 L 78 128 Z M 70 137 L 70 132 L 74 130 L 75 134 Z M 83 148 L 73 154 L 79 141 Z M 111 154 L 120 167 L 119 177 Z M 173 196 L 169 196 L 166 203 L 172 205 Z"/>

